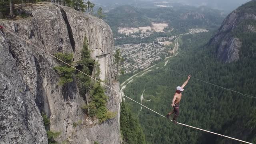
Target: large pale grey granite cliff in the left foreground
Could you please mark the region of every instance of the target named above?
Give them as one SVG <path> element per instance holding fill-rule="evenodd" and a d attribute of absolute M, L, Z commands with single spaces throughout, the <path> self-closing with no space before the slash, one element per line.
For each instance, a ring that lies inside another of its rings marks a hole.
<path fill-rule="evenodd" d="M 29 17 L 0 20 L 0 25 L 50 54 L 73 53 L 74 62 L 81 58 L 86 36 L 91 57 L 100 64 L 100 79 L 119 91 L 119 82 L 114 80 L 113 35 L 103 20 L 48 2 L 15 8 Z M 47 144 L 42 111 L 50 116 L 50 130 L 61 132 L 56 138 L 60 143 L 119 144 L 120 95 L 106 89 L 108 109 L 117 115 L 96 124 L 80 108 L 85 102 L 76 82 L 58 85 L 59 76 L 53 70 L 58 64 L 24 40 L 0 31 L 0 144 Z M 82 125 L 73 128 L 78 120 Z"/>

